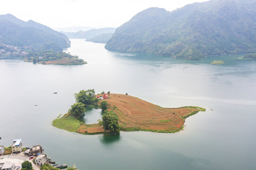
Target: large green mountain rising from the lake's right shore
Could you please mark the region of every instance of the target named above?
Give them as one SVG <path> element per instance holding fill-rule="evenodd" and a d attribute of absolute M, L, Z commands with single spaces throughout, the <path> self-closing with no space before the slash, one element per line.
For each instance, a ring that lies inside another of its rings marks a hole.
<path fill-rule="evenodd" d="M 148 8 L 118 27 L 105 48 L 181 59 L 256 52 L 256 0 Z"/>

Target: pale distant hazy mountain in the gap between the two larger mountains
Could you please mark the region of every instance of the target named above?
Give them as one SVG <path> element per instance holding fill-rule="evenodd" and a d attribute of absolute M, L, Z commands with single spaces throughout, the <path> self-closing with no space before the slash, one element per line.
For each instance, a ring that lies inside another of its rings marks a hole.
<path fill-rule="evenodd" d="M 66 33 L 61 32 L 65 35 L 67 35 L 69 38 L 85 38 L 90 39 L 94 38 L 95 36 L 101 35 L 101 34 L 108 34 L 108 33 L 114 33 L 116 28 L 99 28 L 99 29 L 91 29 L 88 31 L 79 31 L 76 33 Z"/>

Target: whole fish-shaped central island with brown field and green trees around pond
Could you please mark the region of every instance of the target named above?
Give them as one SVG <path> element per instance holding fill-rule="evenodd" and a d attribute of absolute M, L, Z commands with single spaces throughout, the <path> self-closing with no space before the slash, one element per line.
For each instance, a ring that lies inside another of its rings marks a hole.
<path fill-rule="evenodd" d="M 183 129 L 187 117 L 205 111 L 196 106 L 162 108 L 128 93 L 108 94 L 108 98 L 100 100 L 94 89 L 75 93 L 76 102 L 62 118 L 53 120 L 53 126 L 80 134 L 118 134 L 120 131 L 176 133 Z M 79 118 L 86 116 L 85 106 L 101 108 L 102 120 L 99 119 L 97 124 L 81 122 Z"/>

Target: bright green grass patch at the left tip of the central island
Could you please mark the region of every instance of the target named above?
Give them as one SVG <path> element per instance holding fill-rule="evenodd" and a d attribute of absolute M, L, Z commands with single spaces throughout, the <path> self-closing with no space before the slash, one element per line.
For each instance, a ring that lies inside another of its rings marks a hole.
<path fill-rule="evenodd" d="M 82 123 L 78 119 L 73 118 L 71 115 L 67 116 L 66 118 L 53 120 L 54 127 L 67 130 L 69 132 L 76 132 L 81 124 Z"/>

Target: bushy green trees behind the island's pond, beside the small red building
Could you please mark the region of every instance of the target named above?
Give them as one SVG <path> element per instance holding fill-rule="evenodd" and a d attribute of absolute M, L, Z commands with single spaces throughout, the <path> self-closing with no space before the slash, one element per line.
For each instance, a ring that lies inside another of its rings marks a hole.
<path fill-rule="evenodd" d="M 95 104 L 98 99 L 95 97 L 94 89 L 80 90 L 79 93 L 74 94 L 76 102 L 81 102 L 83 104 Z"/>

